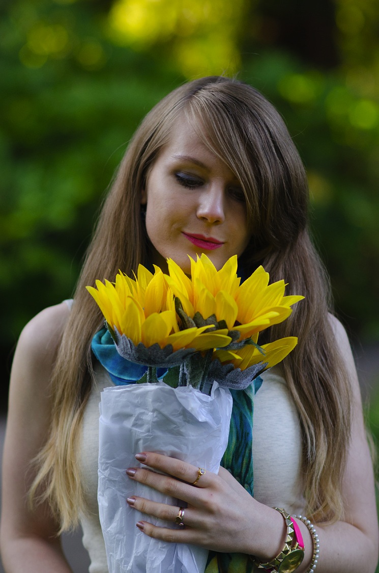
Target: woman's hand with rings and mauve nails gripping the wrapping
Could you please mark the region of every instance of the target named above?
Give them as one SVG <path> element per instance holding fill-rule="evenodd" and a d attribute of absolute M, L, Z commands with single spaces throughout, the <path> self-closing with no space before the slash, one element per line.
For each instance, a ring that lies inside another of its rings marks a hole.
<path fill-rule="evenodd" d="M 137 527 L 143 533 L 170 543 L 191 543 L 222 552 L 253 553 L 254 535 L 260 528 L 260 508 L 264 506 L 254 500 L 226 469 L 220 468 L 218 475 L 206 472 L 193 485 L 198 477 L 196 466 L 155 453 L 135 457 L 149 468 L 169 476 L 145 468 L 129 468 L 126 473 L 131 479 L 182 500 L 183 507 L 187 505 L 183 516 L 186 527 L 163 528 L 149 521 L 139 521 Z M 130 507 L 170 524 L 175 523 L 179 513 L 178 506 L 142 497 L 133 496 L 127 501 Z"/>

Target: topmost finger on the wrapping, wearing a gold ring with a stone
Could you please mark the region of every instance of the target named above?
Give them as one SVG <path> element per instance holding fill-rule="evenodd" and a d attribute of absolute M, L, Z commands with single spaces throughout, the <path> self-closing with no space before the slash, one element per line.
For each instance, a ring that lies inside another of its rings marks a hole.
<path fill-rule="evenodd" d="M 208 487 L 212 481 L 212 476 L 214 476 L 211 472 L 207 475 L 204 468 L 187 464 L 186 462 L 169 456 L 162 456 L 162 454 L 142 452 L 136 454 L 135 458 L 139 462 L 149 466 L 149 468 L 154 468 L 161 472 L 168 473 L 170 476 L 177 477 L 179 480 L 196 485 L 200 488 Z"/>

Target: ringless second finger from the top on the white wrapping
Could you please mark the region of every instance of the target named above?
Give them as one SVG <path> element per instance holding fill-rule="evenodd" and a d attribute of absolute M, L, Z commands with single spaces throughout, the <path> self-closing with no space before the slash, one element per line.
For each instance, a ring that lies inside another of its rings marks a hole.
<path fill-rule="evenodd" d="M 198 506 L 201 504 L 199 499 L 200 489 L 173 477 L 152 472 L 150 469 L 145 468 L 128 468 L 126 473 L 132 480 L 148 485 L 150 488 L 156 489 L 165 495 L 183 500 L 190 505 Z"/>

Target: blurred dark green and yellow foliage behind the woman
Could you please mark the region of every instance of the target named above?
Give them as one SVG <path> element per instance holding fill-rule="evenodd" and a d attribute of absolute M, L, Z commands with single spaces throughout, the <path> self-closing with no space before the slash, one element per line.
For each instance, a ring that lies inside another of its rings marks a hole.
<path fill-rule="evenodd" d="M 354 342 L 379 342 L 377 0 L 3 0 L 0 363 L 70 297 L 99 205 L 142 116 L 204 74 L 238 73 L 284 115 L 315 241 Z"/>

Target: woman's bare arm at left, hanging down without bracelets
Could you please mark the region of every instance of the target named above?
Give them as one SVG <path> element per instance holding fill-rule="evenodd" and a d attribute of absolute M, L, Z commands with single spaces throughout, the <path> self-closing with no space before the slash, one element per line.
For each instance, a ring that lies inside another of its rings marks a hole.
<path fill-rule="evenodd" d="M 7 573 L 69 573 L 49 507 L 30 511 L 27 492 L 30 461 L 49 431 L 49 382 L 57 340 L 69 309 L 65 303 L 45 309 L 23 329 L 11 371 L 9 411 L 3 453 L 0 543 Z"/>

